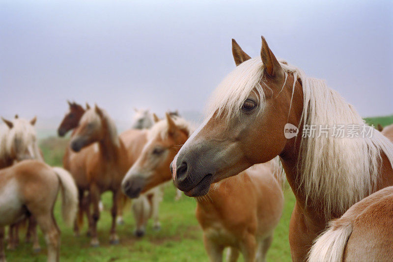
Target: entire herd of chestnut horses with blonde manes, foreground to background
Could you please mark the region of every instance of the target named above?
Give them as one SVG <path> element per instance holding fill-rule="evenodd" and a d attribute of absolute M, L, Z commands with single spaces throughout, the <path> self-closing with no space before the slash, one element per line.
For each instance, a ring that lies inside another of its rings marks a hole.
<path fill-rule="evenodd" d="M 58 135 L 73 130 L 63 168 L 44 163 L 36 118 L 3 119 L 0 133 L 0 261 L 28 238 L 39 249 L 45 235 L 48 261 L 59 260 L 60 232 L 53 208 L 62 192 L 62 214 L 80 234 L 84 217 L 92 246 L 102 193 L 112 192 L 110 239 L 133 200 L 135 234 L 149 218 L 160 228 L 163 185 L 197 201 L 196 217 L 211 261 L 265 261 L 283 209 L 282 187 L 296 204 L 289 224 L 293 261 L 393 261 L 393 125 L 369 137 L 303 136 L 306 126 L 365 125 L 356 110 L 324 81 L 278 60 L 262 37 L 251 58 L 232 39 L 236 68 L 209 102 L 205 121 L 193 125 L 177 112 L 164 119 L 137 112 L 133 128 L 117 133 L 112 118 L 95 105 L 69 104 Z M 293 124 L 292 138 L 284 126 Z M 180 192 L 180 191 L 178 191 Z M 178 195 L 177 197 L 179 197 Z"/>

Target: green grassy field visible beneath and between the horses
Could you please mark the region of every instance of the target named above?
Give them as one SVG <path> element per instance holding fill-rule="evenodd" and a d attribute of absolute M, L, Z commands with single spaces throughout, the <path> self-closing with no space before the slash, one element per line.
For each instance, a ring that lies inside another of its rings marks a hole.
<path fill-rule="evenodd" d="M 393 116 L 366 118 L 370 124 L 388 125 L 393 122 Z M 66 139 L 48 138 L 41 141 L 41 148 L 45 160 L 53 166 L 61 166 Z M 295 203 L 292 191 L 287 187 L 284 191 L 285 207 L 281 222 L 276 229 L 272 247 L 268 252 L 268 261 L 290 261 L 288 227 L 290 215 Z M 105 210 L 101 213 L 98 223 L 101 246 L 89 246 L 89 238 L 83 234 L 74 237 L 71 228 L 62 222 L 59 206 L 56 204 L 56 220 L 61 229 L 61 261 L 95 262 L 95 261 L 154 261 L 154 262 L 187 262 L 208 261 L 202 244 L 202 231 L 195 218 L 196 202 L 192 198 L 183 196 L 178 202 L 174 201 L 175 189 L 168 185 L 164 201 L 160 206 L 162 229 L 155 232 L 151 224 L 148 225 L 143 238 L 137 239 L 133 235 L 134 219 L 130 208 L 125 212 L 125 224 L 118 226 L 120 244 L 109 244 L 109 229 L 111 217 L 111 194 L 103 196 Z M 86 226 L 84 227 L 84 231 Z M 21 233 L 24 239 L 23 231 Z M 46 246 L 40 234 L 42 251 L 35 254 L 31 244 L 21 243 L 17 250 L 6 251 L 7 260 L 12 261 L 46 261 Z"/>

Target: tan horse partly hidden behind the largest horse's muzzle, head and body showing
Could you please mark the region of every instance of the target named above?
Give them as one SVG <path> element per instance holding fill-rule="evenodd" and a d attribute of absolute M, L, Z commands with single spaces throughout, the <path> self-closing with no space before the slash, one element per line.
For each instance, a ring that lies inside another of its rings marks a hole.
<path fill-rule="evenodd" d="M 166 118 L 151 128 L 140 157 L 123 179 L 122 189 L 129 197 L 171 180 L 166 167 L 193 128 L 183 118 L 172 119 L 168 114 Z M 231 247 L 230 261 L 236 261 L 239 249 L 246 261 L 256 257 L 264 261 L 283 208 L 281 186 L 270 162 L 216 183 L 197 203 L 196 215 L 211 261 L 222 261 L 226 246 Z"/>

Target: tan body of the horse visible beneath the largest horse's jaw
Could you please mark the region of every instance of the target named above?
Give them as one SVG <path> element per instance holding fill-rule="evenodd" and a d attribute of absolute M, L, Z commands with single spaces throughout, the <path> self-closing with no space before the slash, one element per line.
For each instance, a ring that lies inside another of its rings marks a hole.
<path fill-rule="evenodd" d="M 206 197 L 197 197 L 197 220 L 210 261 L 266 261 L 274 229 L 279 224 L 284 196 L 271 163 L 258 164 L 212 184 Z"/>

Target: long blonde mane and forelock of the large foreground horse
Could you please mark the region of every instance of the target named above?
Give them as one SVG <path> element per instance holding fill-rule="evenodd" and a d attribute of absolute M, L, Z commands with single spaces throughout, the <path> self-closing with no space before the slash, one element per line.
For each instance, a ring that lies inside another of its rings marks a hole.
<path fill-rule="evenodd" d="M 288 74 L 302 82 L 303 125 L 365 124 L 353 106 L 327 87 L 325 81 L 309 78 L 286 62 L 280 64 L 285 82 Z M 215 112 L 223 114 L 227 120 L 237 116 L 251 92 L 256 92 L 263 111 L 265 96 L 260 82 L 266 85 L 262 76 L 260 57 L 237 66 L 214 92 L 207 108 L 207 119 Z M 292 93 L 294 87 L 295 81 Z M 325 218 L 330 219 L 371 194 L 380 178 L 381 152 L 393 164 L 393 144 L 376 130 L 371 138 L 302 138 L 297 177 L 299 188 L 305 193 L 306 206 L 320 201 L 319 204 L 324 205 Z"/>

